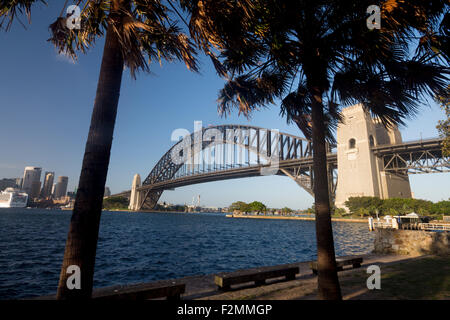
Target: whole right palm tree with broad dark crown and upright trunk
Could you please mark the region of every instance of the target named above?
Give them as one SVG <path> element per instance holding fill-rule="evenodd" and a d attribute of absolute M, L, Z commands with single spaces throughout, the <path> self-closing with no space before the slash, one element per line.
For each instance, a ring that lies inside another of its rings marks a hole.
<path fill-rule="evenodd" d="M 361 102 L 386 126 L 402 124 L 448 80 L 448 38 L 439 24 L 446 1 L 376 2 L 381 29 L 369 30 L 373 0 L 260 0 L 238 2 L 241 7 L 181 1 L 191 13 L 191 35 L 205 51 L 218 51 L 227 79 L 219 111 L 248 115 L 281 100 L 281 113 L 313 141 L 321 299 L 341 299 L 326 164 L 326 140 L 340 109 Z"/>

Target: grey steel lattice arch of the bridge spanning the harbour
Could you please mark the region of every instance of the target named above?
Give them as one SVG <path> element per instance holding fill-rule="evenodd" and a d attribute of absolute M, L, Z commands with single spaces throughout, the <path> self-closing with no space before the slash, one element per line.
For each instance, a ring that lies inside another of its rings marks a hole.
<path fill-rule="evenodd" d="M 273 174 L 294 179 L 313 195 L 312 152 L 311 141 L 278 130 L 233 124 L 201 128 L 173 145 L 154 166 L 138 188 L 139 208 L 154 208 L 167 189 Z M 334 195 L 337 159 L 329 155 Z"/>

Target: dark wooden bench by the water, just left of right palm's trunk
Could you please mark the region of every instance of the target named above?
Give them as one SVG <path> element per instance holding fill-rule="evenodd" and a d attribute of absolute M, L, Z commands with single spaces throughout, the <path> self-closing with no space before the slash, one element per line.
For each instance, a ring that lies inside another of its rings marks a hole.
<path fill-rule="evenodd" d="M 266 283 L 267 279 L 285 277 L 286 280 L 294 280 L 299 273 L 299 268 L 295 266 L 264 267 L 250 270 L 239 270 L 234 272 L 219 273 L 215 276 L 214 282 L 219 290 L 228 291 L 231 285 L 254 282 L 260 286 Z"/>

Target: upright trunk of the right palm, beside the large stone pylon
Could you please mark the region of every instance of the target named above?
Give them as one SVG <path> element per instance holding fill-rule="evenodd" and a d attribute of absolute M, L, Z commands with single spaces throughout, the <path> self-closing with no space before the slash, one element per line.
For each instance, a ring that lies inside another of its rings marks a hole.
<path fill-rule="evenodd" d="M 316 211 L 317 267 L 319 299 L 340 300 L 328 191 L 327 153 L 322 95 L 315 92 L 312 102 L 314 159 L 314 200 Z"/>

